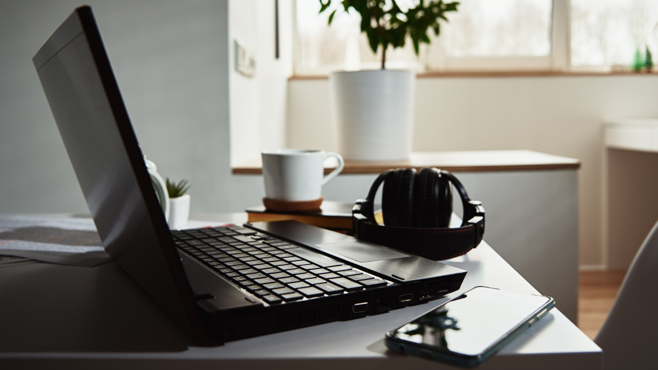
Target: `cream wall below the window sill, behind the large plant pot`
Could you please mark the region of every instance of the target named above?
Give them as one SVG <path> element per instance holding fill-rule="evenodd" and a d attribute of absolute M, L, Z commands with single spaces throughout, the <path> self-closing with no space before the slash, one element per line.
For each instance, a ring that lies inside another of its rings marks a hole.
<path fill-rule="evenodd" d="M 288 145 L 336 150 L 328 80 L 291 80 L 288 95 Z M 601 122 L 658 117 L 658 76 L 418 78 L 416 96 L 414 151 L 531 149 L 580 159 L 580 265 L 603 267 Z"/>

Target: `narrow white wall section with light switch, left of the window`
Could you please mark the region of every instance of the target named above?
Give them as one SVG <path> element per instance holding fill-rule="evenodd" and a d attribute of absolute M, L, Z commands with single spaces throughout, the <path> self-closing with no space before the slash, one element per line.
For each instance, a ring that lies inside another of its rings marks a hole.
<path fill-rule="evenodd" d="M 292 2 L 279 1 L 279 58 L 275 58 L 273 0 L 229 1 L 231 164 L 263 149 L 286 146 L 286 90 L 292 74 Z M 254 76 L 235 69 L 237 40 L 256 57 Z"/>

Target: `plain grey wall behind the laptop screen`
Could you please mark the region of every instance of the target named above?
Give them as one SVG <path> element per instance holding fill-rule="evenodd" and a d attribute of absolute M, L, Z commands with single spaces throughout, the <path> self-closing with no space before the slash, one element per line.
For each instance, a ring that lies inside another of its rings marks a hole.
<path fill-rule="evenodd" d="M 192 211 L 259 203 L 230 174 L 228 2 L 88 1 L 142 150 L 188 178 Z M 86 212 L 32 56 L 79 1 L 0 2 L 0 213 Z"/>

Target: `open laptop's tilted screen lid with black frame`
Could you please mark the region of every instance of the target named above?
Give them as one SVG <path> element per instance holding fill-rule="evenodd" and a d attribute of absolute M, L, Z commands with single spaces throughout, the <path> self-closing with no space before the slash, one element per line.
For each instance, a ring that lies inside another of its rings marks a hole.
<path fill-rule="evenodd" d="M 193 294 L 89 7 L 32 59 L 91 217 L 114 261 L 193 338 Z"/>

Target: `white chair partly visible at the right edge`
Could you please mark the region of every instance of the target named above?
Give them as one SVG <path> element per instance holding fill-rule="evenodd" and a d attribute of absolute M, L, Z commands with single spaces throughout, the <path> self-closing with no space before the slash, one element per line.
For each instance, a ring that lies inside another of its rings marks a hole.
<path fill-rule="evenodd" d="M 603 369 L 658 369 L 658 222 L 636 253 L 594 340 Z"/>

